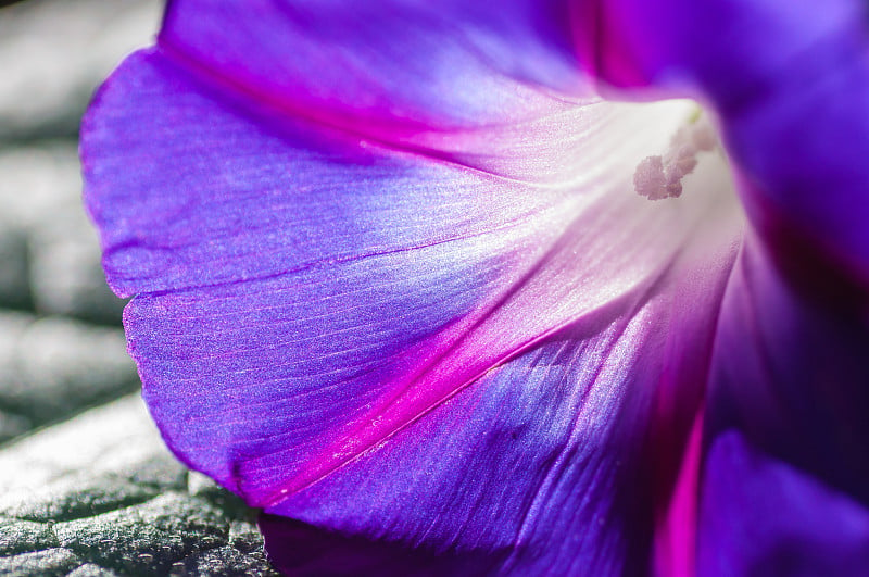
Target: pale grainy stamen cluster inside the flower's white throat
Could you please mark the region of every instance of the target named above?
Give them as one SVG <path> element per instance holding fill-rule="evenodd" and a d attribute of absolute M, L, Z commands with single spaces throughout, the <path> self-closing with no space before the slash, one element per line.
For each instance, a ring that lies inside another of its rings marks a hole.
<path fill-rule="evenodd" d="M 682 178 L 697 165 L 697 156 L 718 147 L 709 122 L 697 110 L 688 124 L 679 128 L 664 155 L 646 156 L 633 173 L 633 188 L 648 200 L 678 198 L 682 195 Z"/>

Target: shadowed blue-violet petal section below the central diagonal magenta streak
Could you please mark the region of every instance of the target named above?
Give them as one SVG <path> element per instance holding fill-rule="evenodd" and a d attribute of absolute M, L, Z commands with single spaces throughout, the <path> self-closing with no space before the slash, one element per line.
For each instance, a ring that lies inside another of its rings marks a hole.
<path fill-rule="evenodd" d="M 696 256 L 635 308 L 577 321 L 268 511 L 456 574 L 646 573 L 732 252 L 706 271 Z M 297 543 L 263 529 L 291 572 Z M 390 569 L 425 574 L 407 563 Z"/>

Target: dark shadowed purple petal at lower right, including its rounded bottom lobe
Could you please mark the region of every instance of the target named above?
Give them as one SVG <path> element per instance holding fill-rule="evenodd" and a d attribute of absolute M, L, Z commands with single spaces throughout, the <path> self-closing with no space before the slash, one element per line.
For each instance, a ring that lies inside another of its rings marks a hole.
<path fill-rule="evenodd" d="M 796 290 L 766 248 L 745 244 L 710 371 L 701 568 L 781 573 L 772 568 L 791 552 L 807 574 L 862 572 L 867 351 L 869 326 L 853 302 Z"/>

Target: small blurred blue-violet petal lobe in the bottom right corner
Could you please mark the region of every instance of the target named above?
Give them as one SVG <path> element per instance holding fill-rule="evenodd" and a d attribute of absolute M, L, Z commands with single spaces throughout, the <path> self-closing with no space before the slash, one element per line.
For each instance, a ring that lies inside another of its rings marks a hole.
<path fill-rule="evenodd" d="M 702 493 L 698 575 L 864 575 L 869 509 L 736 431 L 716 438 Z"/>

